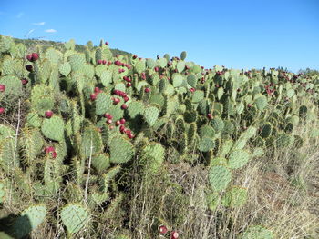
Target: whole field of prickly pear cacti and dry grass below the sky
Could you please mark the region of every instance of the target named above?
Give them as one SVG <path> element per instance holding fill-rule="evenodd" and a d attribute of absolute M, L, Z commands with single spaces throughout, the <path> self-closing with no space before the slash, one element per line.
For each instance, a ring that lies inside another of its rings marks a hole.
<path fill-rule="evenodd" d="M 0 238 L 319 238 L 319 75 L 0 54 Z"/>

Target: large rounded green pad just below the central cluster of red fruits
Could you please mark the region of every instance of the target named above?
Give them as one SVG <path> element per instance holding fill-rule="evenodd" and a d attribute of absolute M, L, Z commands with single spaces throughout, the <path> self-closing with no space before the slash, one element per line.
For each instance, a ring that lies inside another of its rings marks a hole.
<path fill-rule="evenodd" d="M 110 163 L 127 163 L 135 154 L 133 144 L 124 136 L 114 136 L 109 140 Z"/>

